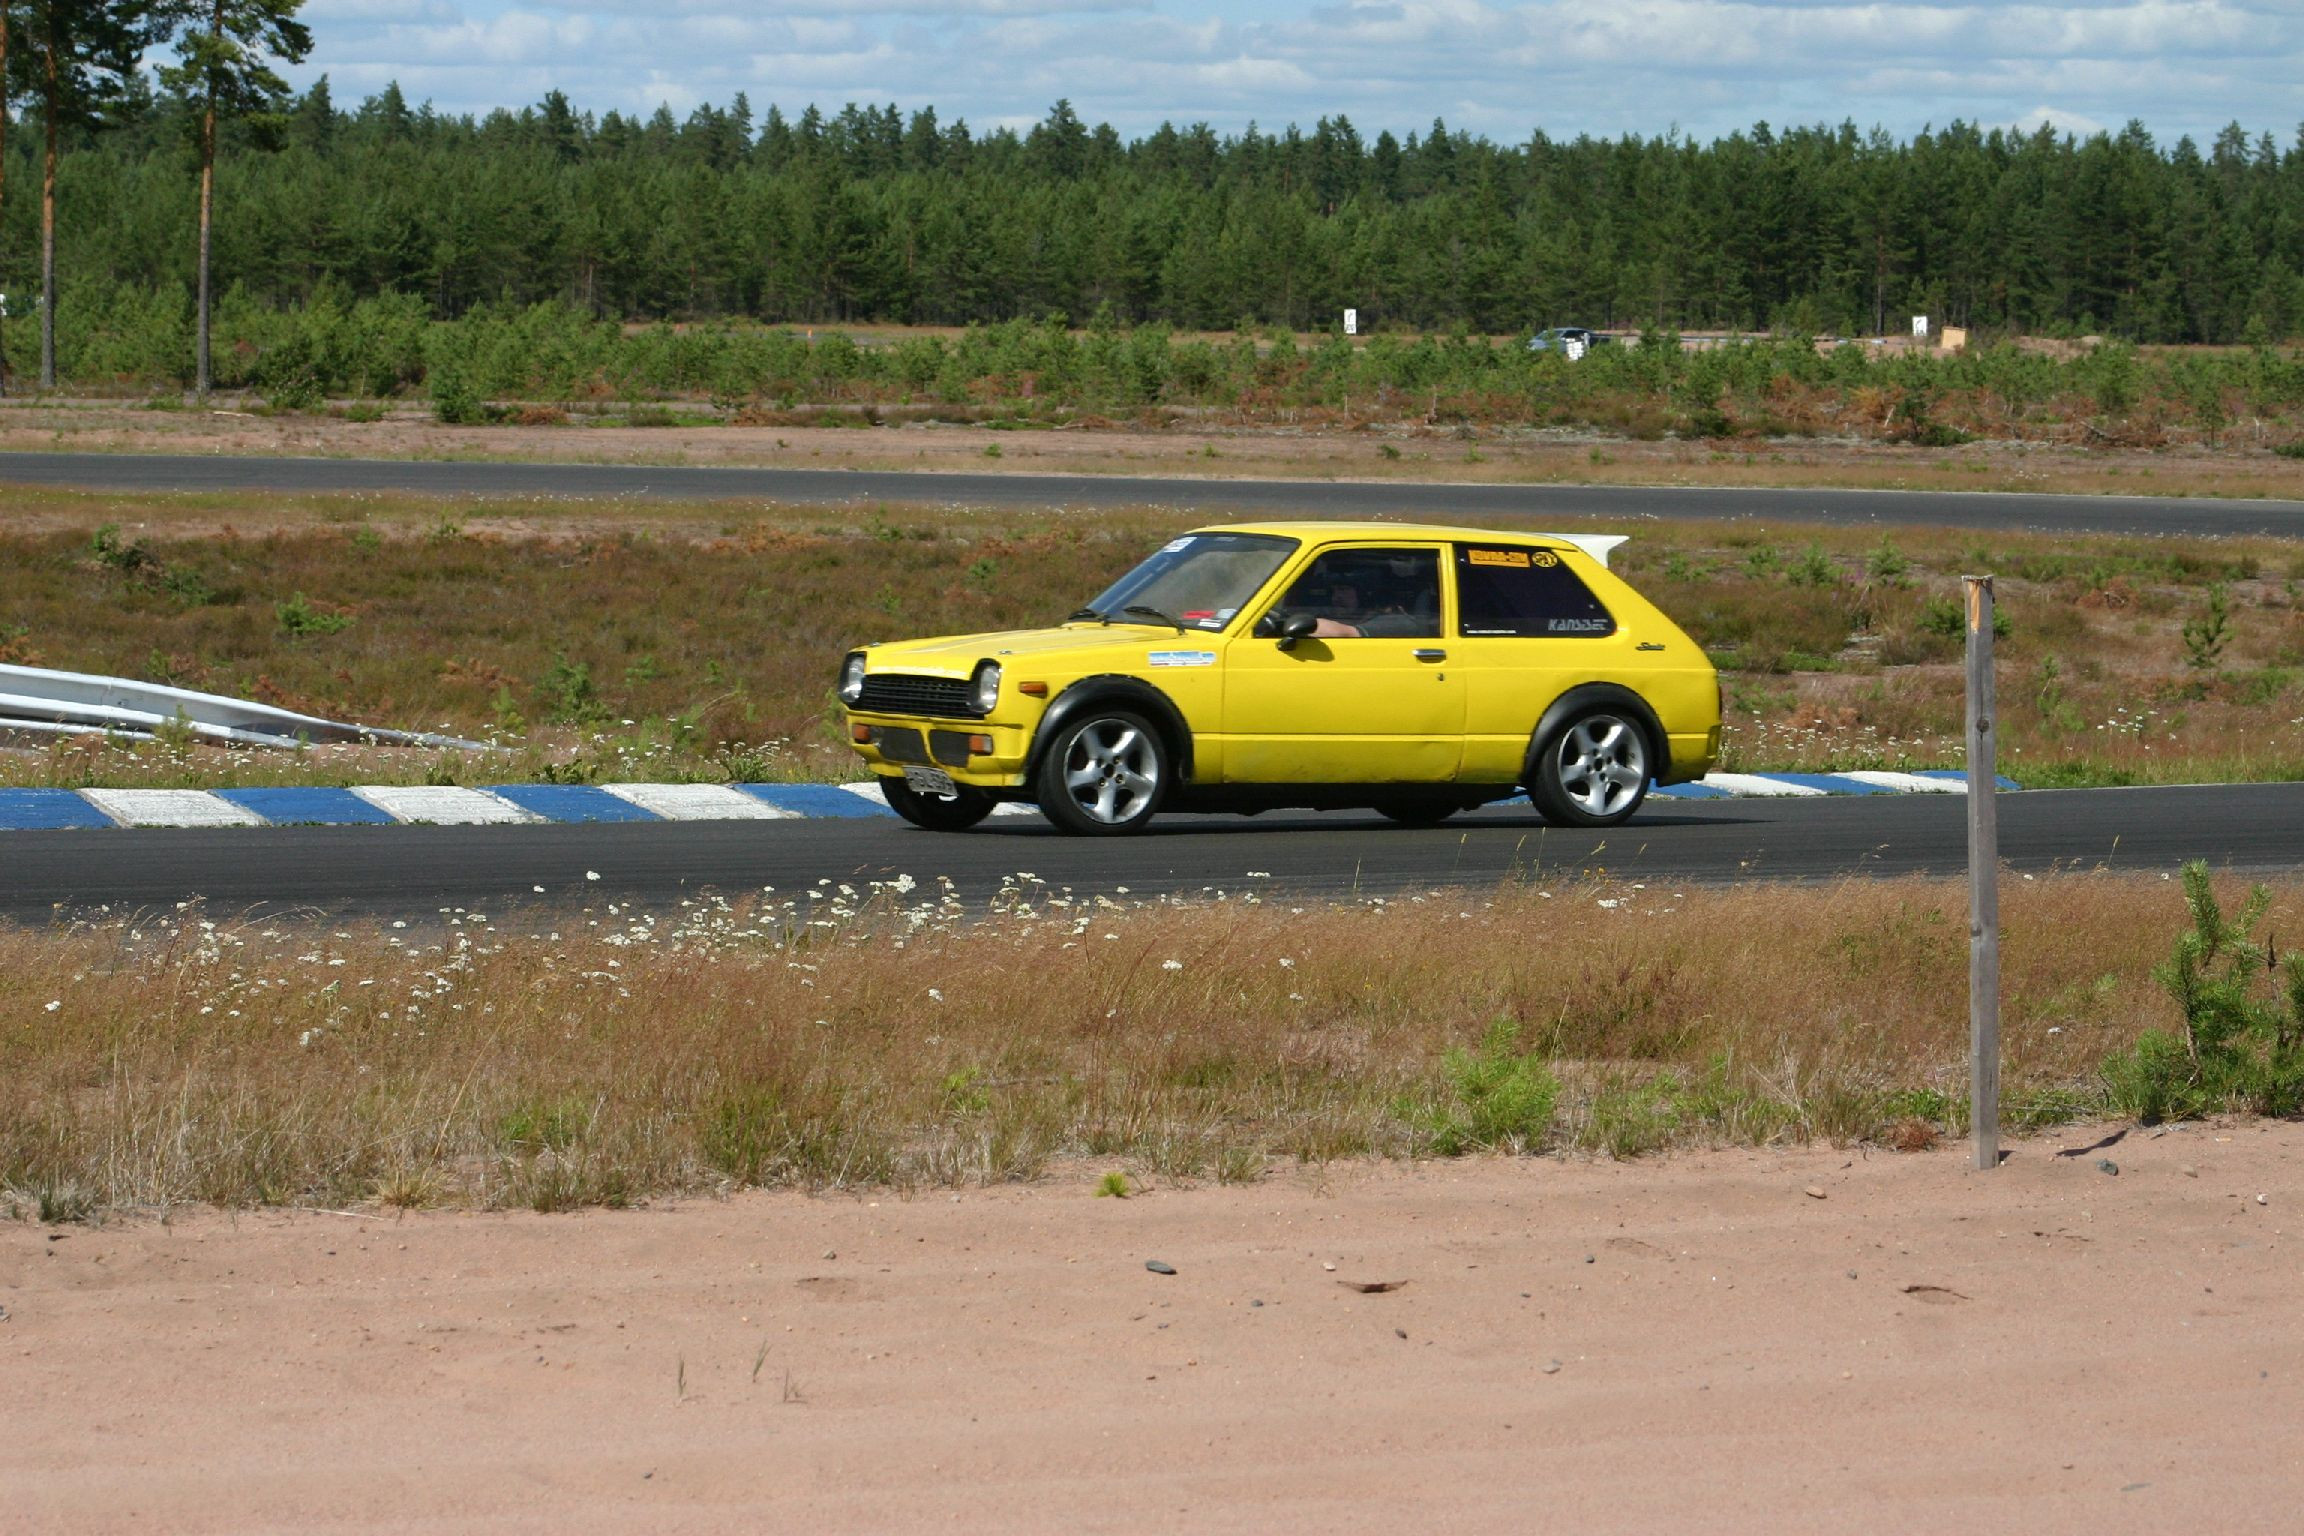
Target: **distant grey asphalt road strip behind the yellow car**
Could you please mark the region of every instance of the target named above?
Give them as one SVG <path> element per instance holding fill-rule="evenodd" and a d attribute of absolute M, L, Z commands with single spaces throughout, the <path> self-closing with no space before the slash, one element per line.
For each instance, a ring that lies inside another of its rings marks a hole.
<path fill-rule="evenodd" d="M 223 454 L 0 454 L 0 484 L 92 491 L 403 491 L 585 500 L 929 502 L 952 507 L 1175 507 L 1260 518 L 1465 514 L 1505 518 L 1765 518 L 2113 534 L 2304 537 L 2304 502 L 1956 491 L 1726 491 L 1673 486 L 1428 486 L 1104 474 L 912 474 L 657 465 L 237 458 Z"/>

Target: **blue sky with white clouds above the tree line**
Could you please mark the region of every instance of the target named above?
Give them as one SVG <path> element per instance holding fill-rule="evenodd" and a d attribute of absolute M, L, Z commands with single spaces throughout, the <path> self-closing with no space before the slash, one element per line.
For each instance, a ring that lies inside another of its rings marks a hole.
<path fill-rule="evenodd" d="M 399 81 L 452 113 L 564 90 L 601 113 L 749 92 L 933 106 L 1025 127 L 1067 97 L 1136 138 L 1346 113 L 1371 136 L 1445 117 L 1712 138 L 1758 120 L 1954 117 L 2074 131 L 2140 117 L 2161 140 L 2237 120 L 2295 143 L 2304 0 L 309 0 L 302 85 L 339 104 Z"/>

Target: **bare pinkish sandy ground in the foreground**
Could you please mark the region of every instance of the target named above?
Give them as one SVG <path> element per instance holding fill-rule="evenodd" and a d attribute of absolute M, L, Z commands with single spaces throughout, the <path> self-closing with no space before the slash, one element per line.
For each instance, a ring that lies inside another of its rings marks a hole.
<path fill-rule="evenodd" d="M 7 1225 L 0 1531 L 2295 1529 L 2304 1124 L 2110 1135 Z"/>

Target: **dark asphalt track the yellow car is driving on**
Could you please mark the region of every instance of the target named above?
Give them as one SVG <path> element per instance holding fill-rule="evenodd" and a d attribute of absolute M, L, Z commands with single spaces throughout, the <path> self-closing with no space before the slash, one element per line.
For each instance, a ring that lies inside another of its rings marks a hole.
<path fill-rule="evenodd" d="M 1129 896 L 1260 891 L 1401 896 L 1486 889 L 1502 880 L 1836 880 L 1958 877 L 1968 861 L 1956 794 L 1834 799 L 1652 799 L 1627 824 L 1544 827 L 1491 808 L 1440 827 L 1373 815 L 1164 818 L 1147 836 L 1069 838 L 1037 818 L 977 831 L 917 831 L 896 820 L 617 822 L 576 827 L 228 827 L 0 834 L 0 917 L 46 923 L 90 907 L 168 907 L 200 898 L 210 917 L 491 917 L 604 900 L 647 910 L 684 896 L 818 880 L 862 887 L 912 875 L 933 894 L 952 877 L 968 903 L 1030 873 L 1051 887 Z M 2000 797 L 2000 850 L 2014 877 L 2076 870 L 2173 873 L 2186 859 L 2251 875 L 2304 870 L 2304 785 L 2025 790 Z M 592 877 L 597 875 L 597 880 Z M 537 887 L 544 887 L 537 891 Z M 917 900 L 919 896 L 915 896 Z"/>

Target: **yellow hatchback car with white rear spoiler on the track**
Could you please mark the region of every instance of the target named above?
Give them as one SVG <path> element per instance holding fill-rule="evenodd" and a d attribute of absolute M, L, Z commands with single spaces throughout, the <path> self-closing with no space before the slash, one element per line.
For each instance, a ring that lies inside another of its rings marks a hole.
<path fill-rule="evenodd" d="M 1438 822 L 1528 790 L 1613 827 L 1719 758 L 1719 675 L 1608 571 L 1620 537 L 1237 523 L 1157 548 L 1051 629 L 869 645 L 857 755 L 917 827 L 1032 801 L 1064 831 L 1161 811 L 1366 806 Z"/>

